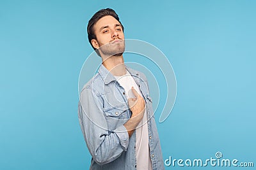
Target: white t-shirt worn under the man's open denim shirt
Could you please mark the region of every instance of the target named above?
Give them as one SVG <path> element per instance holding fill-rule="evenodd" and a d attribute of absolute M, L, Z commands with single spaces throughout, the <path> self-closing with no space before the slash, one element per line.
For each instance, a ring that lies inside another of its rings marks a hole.
<path fill-rule="evenodd" d="M 131 97 L 135 98 L 132 87 L 142 96 L 138 85 L 128 71 L 125 75 L 115 76 L 115 78 L 124 88 L 127 99 Z M 136 127 L 136 167 L 138 170 L 152 169 L 148 146 L 147 108 L 145 108 L 145 113 L 140 124 Z"/>

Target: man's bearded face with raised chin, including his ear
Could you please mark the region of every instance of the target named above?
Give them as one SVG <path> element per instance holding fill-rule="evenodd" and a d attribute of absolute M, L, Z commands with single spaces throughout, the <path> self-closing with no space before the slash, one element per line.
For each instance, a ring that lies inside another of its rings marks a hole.
<path fill-rule="evenodd" d="M 124 53 L 124 32 L 118 20 L 108 15 L 100 18 L 94 25 L 97 39 L 92 39 L 92 45 L 99 49 L 100 54 L 120 56 Z"/>

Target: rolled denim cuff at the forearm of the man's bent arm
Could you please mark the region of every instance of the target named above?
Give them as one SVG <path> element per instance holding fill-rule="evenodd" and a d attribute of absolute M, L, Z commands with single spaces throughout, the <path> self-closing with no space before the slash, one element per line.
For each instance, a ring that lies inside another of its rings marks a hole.
<path fill-rule="evenodd" d="M 129 135 L 127 129 L 124 127 L 124 125 L 121 125 L 120 127 L 117 127 L 114 132 L 120 140 L 122 149 L 126 151 L 129 145 Z"/>

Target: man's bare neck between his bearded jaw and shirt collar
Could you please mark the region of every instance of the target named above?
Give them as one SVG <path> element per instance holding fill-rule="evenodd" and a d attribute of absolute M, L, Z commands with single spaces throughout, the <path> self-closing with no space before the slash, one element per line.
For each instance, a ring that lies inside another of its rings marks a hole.
<path fill-rule="evenodd" d="M 102 61 L 102 65 L 105 66 L 113 76 L 123 76 L 126 74 L 123 55 L 108 57 L 108 59 Z"/>

